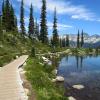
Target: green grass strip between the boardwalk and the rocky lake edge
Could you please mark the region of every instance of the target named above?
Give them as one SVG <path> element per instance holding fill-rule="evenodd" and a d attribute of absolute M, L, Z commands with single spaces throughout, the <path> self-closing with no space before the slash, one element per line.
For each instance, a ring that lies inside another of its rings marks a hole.
<path fill-rule="evenodd" d="M 25 68 L 27 79 L 36 92 L 37 100 L 67 100 L 64 97 L 63 87 L 58 87 L 51 81 L 55 77 L 52 73 L 53 66 L 41 65 L 39 62 L 43 63 L 37 57 L 29 58 Z"/>

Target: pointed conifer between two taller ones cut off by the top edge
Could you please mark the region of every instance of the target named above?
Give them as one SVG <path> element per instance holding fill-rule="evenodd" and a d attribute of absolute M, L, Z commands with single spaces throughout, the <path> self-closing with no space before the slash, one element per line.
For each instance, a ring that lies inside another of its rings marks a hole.
<path fill-rule="evenodd" d="M 31 7 L 30 7 L 30 19 L 29 19 L 29 38 L 33 39 L 34 37 L 34 17 L 33 17 L 33 6 L 31 4 Z"/>

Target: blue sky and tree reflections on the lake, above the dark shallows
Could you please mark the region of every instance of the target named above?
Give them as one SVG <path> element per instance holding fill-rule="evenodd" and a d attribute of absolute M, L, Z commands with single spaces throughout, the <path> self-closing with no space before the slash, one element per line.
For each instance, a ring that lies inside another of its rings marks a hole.
<path fill-rule="evenodd" d="M 97 73 L 100 77 L 100 56 L 66 56 L 58 65 L 58 75 L 69 82 L 86 82 L 93 79 Z M 96 76 L 97 77 L 97 76 Z"/>

